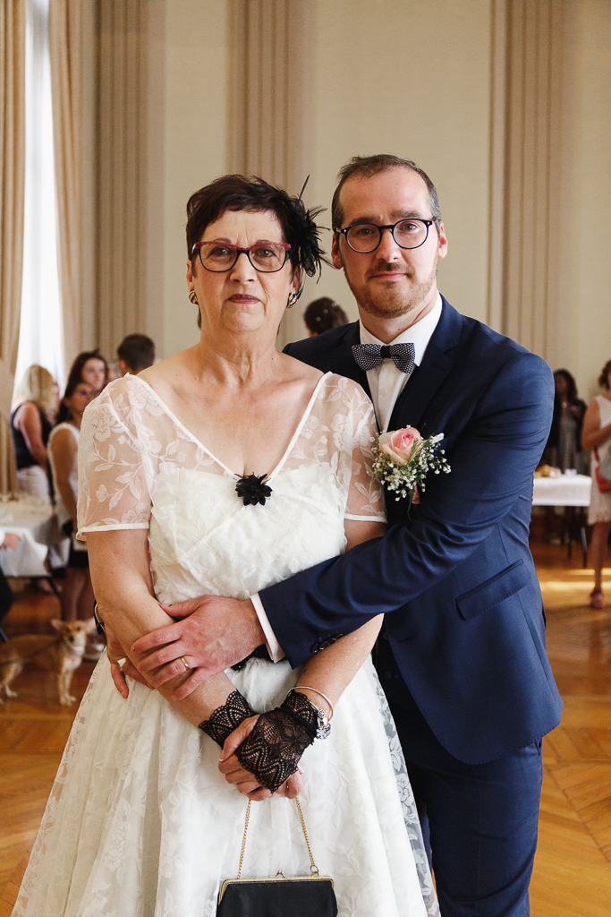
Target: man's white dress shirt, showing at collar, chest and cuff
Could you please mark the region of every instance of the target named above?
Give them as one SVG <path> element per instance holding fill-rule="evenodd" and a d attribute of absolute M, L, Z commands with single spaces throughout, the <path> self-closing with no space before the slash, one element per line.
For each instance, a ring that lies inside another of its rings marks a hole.
<path fill-rule="evenodd" d="M 419 322 L 416 322 L 414 325 L 410 326 L 407 331 L 401 332 L 398 337 L 395 337 L 394 340 L 390 341 L 390 344 L 408 344 L 412 343 L 416 350 L 416 357 L 414 363 L 416 366 L 420 366 L 422 358 L 424 357 L 424 351 L 429 345 L 431 340 L 432 333 L 437 327 L 437 323 L 442 317 L 442 297 L 437 293 L 437 300 L 433 305 L 431 312 L 428 312 Z M 377 337 L 374 337 L 366 327 L 363 326 L 363 323 L 360 323 L 361 330 L 361 344 L 384 344 L 384 341 L 380 341 Z M 374 408 L 376 411 L 377 424 L 380 428 L 381 433 L 387 431 L 387 426 L 390 421 L 390 416 L 397 402 L 398 396 L 403 391 L 406 382 L 409 380 L 409 375 L 405 372 L 401 372 L 393 363 L 392 359 L 385 359 L 384 362 L 380 363 L 379 366 L 376 366 L 374 370 L 367 370 L 367 382 L 369 384 L 369 391 L 371 392 L 371 400 L 374 403 Z M 263 602 L 256 593 L 251 595 L 251 602 L 255 606 L 256 616 L 259 619 L 259 624 L 263 628 L 263 633 L 266 636 L 267 650 L 270 657 L 274 662 L 279 662 L 280 659 L 284 657 L 284 651 L 282 647 L 278 644 L 276 635 L 271 629 L 271 624 L 267 619 L 267 614 L 265 608 L 263 607 Z"/>

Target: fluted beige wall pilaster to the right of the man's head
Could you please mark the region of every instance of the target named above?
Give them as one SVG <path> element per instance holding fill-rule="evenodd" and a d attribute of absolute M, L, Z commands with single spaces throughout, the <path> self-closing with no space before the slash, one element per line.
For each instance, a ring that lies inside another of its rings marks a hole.
<path fill-rule="evenodd" d="M 505 118 L 499 124 L 493 115 L 490 319 L 552 365 L 559 359 L 563 24 L 557 0 L 497 0 L 493 87 Z"/>

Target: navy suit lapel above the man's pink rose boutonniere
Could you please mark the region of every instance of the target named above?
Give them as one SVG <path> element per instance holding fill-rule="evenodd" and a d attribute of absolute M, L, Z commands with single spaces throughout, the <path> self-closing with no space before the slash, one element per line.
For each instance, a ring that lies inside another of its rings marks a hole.
<path fill-rule="evenodd" d="M 406 425 L 420 429 L 422 417 L 435 392 L 458 359 L 462 324 L 461 315 L 442 297 L 442 316 L 418 370 L 398 396 L 388 424 L 389 430 Z M 439 431 L 420 430 L 423 436 L 431 436 L 435 432 Z"/>

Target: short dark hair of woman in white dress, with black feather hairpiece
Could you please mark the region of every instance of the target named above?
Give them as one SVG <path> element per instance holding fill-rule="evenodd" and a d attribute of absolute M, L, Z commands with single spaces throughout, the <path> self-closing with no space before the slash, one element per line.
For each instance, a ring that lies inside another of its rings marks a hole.
<path fill-rule="evenodd" d="M 290 246 L 289 260 L 309 277 L 321 272 L 324 251 L 315 219 L 322 208 L 308 210 L 300 197 L 292 197 L 256 175 L 222 175 L 205 188 L 191 194 L 187 203 L 187 258 L 193 261 L 193 246 L 199 242 L 206 226 L 218 220 L 227 210 L 249 213 L 269 211 L 278 217 L 284 241 Z M 202 316 L 198 310 L 198 326 Z"/>

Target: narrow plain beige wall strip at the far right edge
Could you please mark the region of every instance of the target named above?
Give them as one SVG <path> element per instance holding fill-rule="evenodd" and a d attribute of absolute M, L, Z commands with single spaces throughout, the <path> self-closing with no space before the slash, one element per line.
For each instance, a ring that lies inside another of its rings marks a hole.
<path fill-rule="evenodd" d="M 573 0 L 562 149 L 562 344 L 588 401 L 611 359 L 611 2 Z"/>

